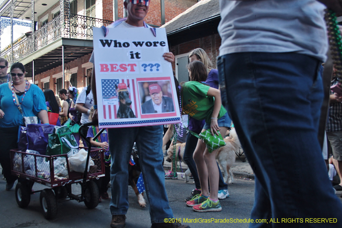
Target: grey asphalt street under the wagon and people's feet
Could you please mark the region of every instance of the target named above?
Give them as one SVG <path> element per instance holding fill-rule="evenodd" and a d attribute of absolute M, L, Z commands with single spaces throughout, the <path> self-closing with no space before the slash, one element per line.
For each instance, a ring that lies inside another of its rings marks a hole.
<path fill-rule="evenodd" d="M 248 164 L 248 163 L 247 163 Z M 0 170 L 1 171 L 1 170 Z M 1 175 L 0 175 L 1 176 Z M 1 176 L 2 177 L 2 176 Z M 235 183 L 229 185 L 230 197 L 220 200 L 222 211 L 200 213 L 187 207 L 185 198 L 191 194 L 194 184 L 188 184 L 178 173 L 178 180 L 166 180 L 165 186 L 169 196 L 170 206 L 174 217 L 182 224 L 192 228 L 247 228 L 248 223 L 204 223 L 211 219 L 248 219 L 254 203 L 254 180 L 247 177 L 235 177 Z M 35 184 L 34 190 L 45 186 Z M 73 189 L 80 191 L 79 185 Z M 110 189 L 108 190 L 110 195 Z M 31 202 L 27 208 L 18 207 L 15 200 L 14 188 L 5 191 L 5 181 L 0 179 L 0 228 L 109 228 L 111 214 L 109 200 L 103 200 L 96 208 L 87 209 L 84 203 L 75 200 L 59 202 L 58 214 L 53 220 L 46 220 L 41 212 L 39 194 L 31 195 Z M 150 228 L 149 204 L 141 208 L 131 187 L 128 187 L 129 209 L 127 213 L 127 228 Z M 147 201 L 147 197 L 145 196 Z M 202 220 L 201 220 L 202 219 Z M 192 220 L 192 221 L 190 221 Z"/>

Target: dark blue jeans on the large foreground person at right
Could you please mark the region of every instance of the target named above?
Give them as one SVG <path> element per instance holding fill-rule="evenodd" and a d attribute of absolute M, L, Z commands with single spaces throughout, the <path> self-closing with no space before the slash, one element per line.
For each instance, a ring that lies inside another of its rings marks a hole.
<path fill-rule="evenodd" d="M 323 98 L 319 64 L 297 53 L 234 53 L 218 59 L 222 103 L 229 104 L 256 175 L 254 220 L 301 218 L 303 223 L 291 227 L 342 227 L 342 204 L 317 139 Z M 305 223 L 318 216 L 337 218 L 337 223 Z"/>

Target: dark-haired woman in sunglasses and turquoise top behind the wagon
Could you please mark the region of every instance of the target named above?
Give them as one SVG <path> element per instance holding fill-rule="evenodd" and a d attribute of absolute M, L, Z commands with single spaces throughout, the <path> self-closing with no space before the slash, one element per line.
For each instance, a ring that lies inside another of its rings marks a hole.
<path fill-rule="evenodd" d="M 9 191 L 17 177 L 11 174 L 10 150 L 18 148 L 19 126 L 24 126 L 23 116 L 38 116 L 42 124 L 49 124 L 43 91 L 25 80 L 25 68 L 20 62 L 11 66 L 12 80 L 0 85 L 0 164 Z M 18 109 L 16 102 L 23 114 Z"/>

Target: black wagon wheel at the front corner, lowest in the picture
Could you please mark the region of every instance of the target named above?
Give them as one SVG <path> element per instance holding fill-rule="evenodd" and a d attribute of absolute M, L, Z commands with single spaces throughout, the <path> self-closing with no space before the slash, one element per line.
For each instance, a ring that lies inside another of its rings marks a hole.
<path fill-rule="evenodd" d="M 57 215 L 57 201 L 51 189 L 44 189 L 40 194 L 41 207 L 45 219 L 53 219 Z"/>

